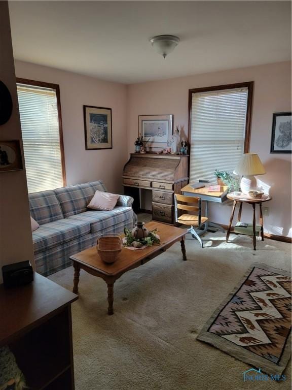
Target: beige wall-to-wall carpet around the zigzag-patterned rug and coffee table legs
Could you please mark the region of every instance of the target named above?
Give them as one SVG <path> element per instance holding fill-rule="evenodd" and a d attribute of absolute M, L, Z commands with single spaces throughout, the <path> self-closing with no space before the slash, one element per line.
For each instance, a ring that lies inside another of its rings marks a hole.
<path fill-rule="evenodd" d="M 106 284 L 81 270 L 72 304 L 76 390 L 290 389 L 287 380 L 244 382 L 251 366 L 196 340 L 204 323 L 252 263 L 290 270 L 291 245 L 208 233 L 205 248 L 187 236 L 115 283 L 115 314 L 106 314 Z M 50 276 L 71 289 L 72 267 Z"/>

